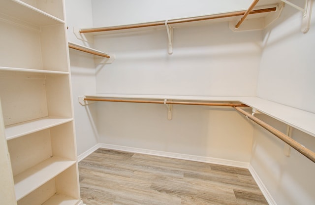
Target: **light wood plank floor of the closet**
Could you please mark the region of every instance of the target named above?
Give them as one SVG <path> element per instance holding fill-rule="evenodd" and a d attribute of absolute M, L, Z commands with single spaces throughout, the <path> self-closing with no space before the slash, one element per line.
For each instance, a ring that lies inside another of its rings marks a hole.
<path fill-rule="evenodd" d="M 86 205 L 268 205 L 247 169 L 98 149 L 79 173 Z"/>

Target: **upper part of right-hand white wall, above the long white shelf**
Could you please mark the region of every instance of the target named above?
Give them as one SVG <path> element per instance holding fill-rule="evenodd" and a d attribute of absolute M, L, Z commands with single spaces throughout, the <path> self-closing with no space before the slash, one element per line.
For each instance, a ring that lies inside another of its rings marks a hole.
<path fill-rule="evenodd" d="M 314 8 L 315 3 L 306 34 L 300 31 L 302 12 L 289 5 L 279 21 L 265 30 L 258 97 L 315 113 Z"/>

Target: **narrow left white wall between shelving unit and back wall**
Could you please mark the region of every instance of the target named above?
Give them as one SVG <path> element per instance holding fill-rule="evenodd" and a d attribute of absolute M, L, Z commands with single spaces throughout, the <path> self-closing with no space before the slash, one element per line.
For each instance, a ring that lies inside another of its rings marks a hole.
<path fill-rule="evenodd" d="M 73 34 L 73 27 L 92 26 L 92 5 L 90 0 L 66 0 L 66 25 L 69 41 L 89 45 Z M 78 97 L 95 93 L 95 64 L 93 55 L 69 49 L 71 86 L 74 107 L 77 153 L 84 153 L 98 143 L 95 128 L 96 106 L 81 106 Z"/>

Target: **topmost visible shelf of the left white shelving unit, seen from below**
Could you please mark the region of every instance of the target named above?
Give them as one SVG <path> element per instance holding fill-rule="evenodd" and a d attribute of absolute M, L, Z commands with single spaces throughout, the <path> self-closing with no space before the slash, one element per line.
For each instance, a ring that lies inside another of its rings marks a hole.
<path fill-rule="evenodd" d="M 48 26 L 64 23 L 63 20 L 56 18 L 46 12 L 39 10 L 20 0 L 2 0 L 0 13 L 11 16 L 20 21 L 27 22 L 35 26 Z"/>

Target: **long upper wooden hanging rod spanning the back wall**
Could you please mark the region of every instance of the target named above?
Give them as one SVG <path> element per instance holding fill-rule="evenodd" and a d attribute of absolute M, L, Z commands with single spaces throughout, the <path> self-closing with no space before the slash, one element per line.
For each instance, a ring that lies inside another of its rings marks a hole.
<path fill-rule="evenodd" d="M 249 14 L 272 12 L 272 11 L 276 11 L 276 9 L 277 7 L 257 9 L 257 10 L 252 10 L 251 12 L 249 12 Z M 228 17 L 242 16 L 245 13 L 246 11 L 235 11 L 235 12 L 228 12 L 228 13 L 221 13 L 221 14 L 191 17 L 191 18 L 173 19 L 173 20 L 168 20 L 167 24 L 170 25 L 170 24 L 187 23 L 187 22 L 193 22 L 193 21 L 204 21 L 204 20 L 211 20 L 211 19 L 228 18 Z M 124 29 L 135 29 L 135 28 L 143 28 L 143 27 L 151 27 L 151 26 L 164 26 L 164 25 L 165 25 L 165 21 L 156 21 L 156 22 L 149 22 L 149 23 L 142 23 L 142 24 L 130 24 L 130 25 L 123 25 L 123 26 L 82 29 L 79 32 L 83 34 L 83 33 L 124 30 Z"/>

